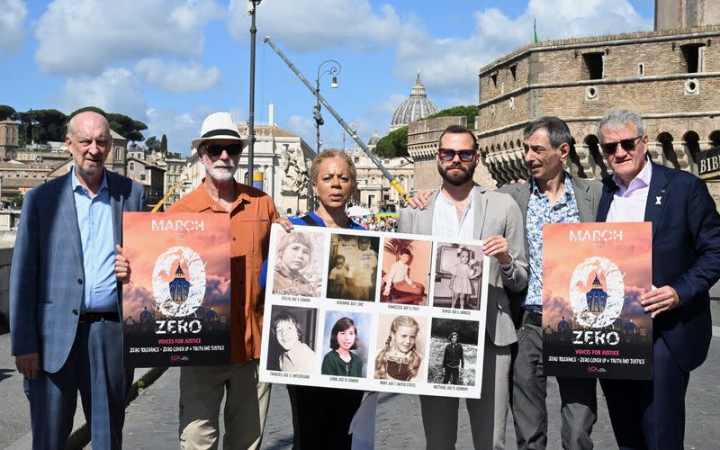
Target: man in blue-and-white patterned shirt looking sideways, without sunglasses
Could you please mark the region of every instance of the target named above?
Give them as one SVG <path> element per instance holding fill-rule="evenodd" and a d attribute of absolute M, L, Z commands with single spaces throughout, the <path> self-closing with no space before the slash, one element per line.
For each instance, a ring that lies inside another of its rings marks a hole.
<path fill-rule="evenodd" d="M 508 184 L 523 213 L 526 253 L 530 265 L 527 290 L 518 318 L 518 354 L 512 366 L 511 408 L 518 450 L 547 446 L 547 378 L 543 373 L 543 225 L 595 221 L 602 184 L 563 171 L 572 136 L 567 124 L 541 117 L 523 130 L 525 162 L 530 180 Z M 594 378 L 557 378 L 560 389 L 563 448 L 590 449 L 590 433 L 598 418 Z"/>

